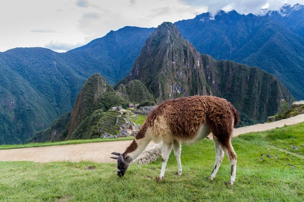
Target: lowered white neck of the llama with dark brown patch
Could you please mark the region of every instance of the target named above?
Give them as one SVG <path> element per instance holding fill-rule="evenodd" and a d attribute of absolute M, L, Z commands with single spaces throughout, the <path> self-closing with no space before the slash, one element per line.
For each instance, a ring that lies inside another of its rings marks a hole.
<path fill-rule="evenodd" d="M 151 141 L 151 139 L 146 135 L 147 126 L 144 124 L 138 131 L 135 139 L 132 141 L 132 143 L 127 147 L 124 155 L 128 155 L 132 158 L 132 161 L 136 159 L 142 151 L 145 149 L 145 147 L 148 145 L 148 143 Z"/>

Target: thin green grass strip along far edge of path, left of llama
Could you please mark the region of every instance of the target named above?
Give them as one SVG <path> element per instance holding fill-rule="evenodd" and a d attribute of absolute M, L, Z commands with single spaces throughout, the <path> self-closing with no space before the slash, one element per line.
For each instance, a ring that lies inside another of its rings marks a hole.
<path fill-rule="evenodd" d="M 122 137 L 122 138 L 109 138 L 109 139 L 80 139 L 80 140 L 67 140 L 61 142 L 39 142 L 39 143 L 28 143 L 28 144 L 6 144 L 0 145 L 1 149 L 13 149 L 13 148 L 28 148 L 28 147 L 41 147 L 41 146 L 55 146 L 55 145 L 67 145 L 67 144 L 84 144 L 92 142 L 108 142 L 108 141 L 123 141 L 132 140 L 134 137 Z"/>

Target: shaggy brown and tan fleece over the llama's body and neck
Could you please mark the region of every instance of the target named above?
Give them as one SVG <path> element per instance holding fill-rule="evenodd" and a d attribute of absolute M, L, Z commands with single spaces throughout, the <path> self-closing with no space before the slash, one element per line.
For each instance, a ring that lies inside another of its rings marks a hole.
<path fill-rule="evenodd" d="M 151 111 L 124 156 L 137 148 L 136 140 L 144 138 L 149 128 L 153 136 L 173 135 L 178 139 L 189 140 L 195 138 L 204 123 L 222 145 L 227 145 L 232 138 L 233 128 L 239 123 L 239 113 L 227 100 L 215 96 L 165 100 Z"/>

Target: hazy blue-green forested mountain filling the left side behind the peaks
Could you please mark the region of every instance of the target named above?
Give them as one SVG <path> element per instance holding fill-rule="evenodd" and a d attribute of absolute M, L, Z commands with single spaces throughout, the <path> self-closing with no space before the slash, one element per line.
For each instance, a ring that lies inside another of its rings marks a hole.
<path fill-rule="evenodd" d="M 22 143 L 70 111 L 84 82 L 126 76 L 154 28 L 124 27 L 59 54 L 46 48 L 0 53 L 0 144 Z"/>

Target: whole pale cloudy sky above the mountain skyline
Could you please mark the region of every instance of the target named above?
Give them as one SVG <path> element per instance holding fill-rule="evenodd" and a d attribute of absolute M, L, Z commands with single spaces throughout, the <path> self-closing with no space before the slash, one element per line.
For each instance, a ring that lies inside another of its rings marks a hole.
<path fill-rule="evenodd" d="M 0 2 L 0 52 L 47 47 L 64 52 L 124 26 L 157 27 L 207 11 L 258 14 L 304 0 L 10 0 Z"/>

